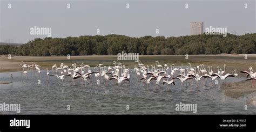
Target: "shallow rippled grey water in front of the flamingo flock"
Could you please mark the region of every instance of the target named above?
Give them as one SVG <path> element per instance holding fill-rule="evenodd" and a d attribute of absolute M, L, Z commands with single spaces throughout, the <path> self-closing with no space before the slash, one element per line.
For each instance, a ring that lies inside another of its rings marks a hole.
<path fill-rule="evenodd" d="M 0 84 L 0 103 L 21 104 L 19 114 L 255 114 L 256 108 L 255 93 L 233 99 L 225 96 L 210 79 L 200 82 L 199 88 L 194 80 L 182 85 L 176 80 L 176 85 L 170 85 L 169 89 L 162 83 L 156 86 L 154 81 L 146 85 L 138 81 L 134 72 L 130 72 L 130 83 L 117 84 L 109 80 L 107 86 L 103 78 L 97 85 L 94 74 L 86 86 L 81 79 L 73 84 L 70 77 L 65 76 L 63 86 L 57 77 L 48 78 L 46 71 L 42 71 L 41 76 L 29 72 L 27 77 L 21 72 L 0 73 L 0 80 L 10 81 L 10 74 L 14 76 L 13 83 Z M 225 82 L 234 80 L 242 78 L 228 78 Z M 180 102 L 197 104 L 197 113 L 176 111 L 176 104 Z M 248 110 L 244 110 L 245 105 Z"/>

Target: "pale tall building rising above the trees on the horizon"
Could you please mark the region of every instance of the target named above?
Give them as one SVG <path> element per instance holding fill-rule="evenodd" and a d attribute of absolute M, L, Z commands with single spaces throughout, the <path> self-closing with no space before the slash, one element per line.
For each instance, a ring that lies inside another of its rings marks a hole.
<path fill-rule="evenodd" d="M 204 33 L 204 22 L 190 22 L 190 35 L 198 35 Z"/>

